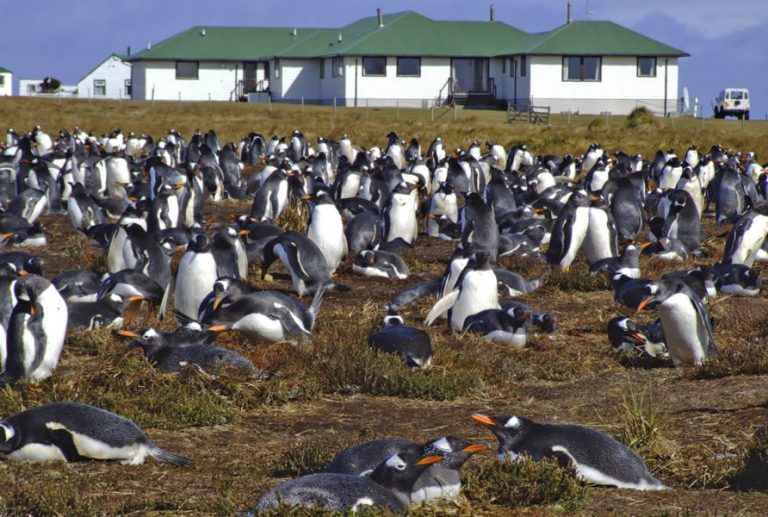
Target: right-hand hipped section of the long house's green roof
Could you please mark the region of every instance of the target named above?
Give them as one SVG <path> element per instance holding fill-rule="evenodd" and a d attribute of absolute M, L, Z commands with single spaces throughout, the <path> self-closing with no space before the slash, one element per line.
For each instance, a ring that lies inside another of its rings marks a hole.
<path fill-rule="evenodd" d="M 573 21 L 531 34 L 523 54 L 596 56 L 688 56 L 664 43 L 608 21 Z"/>

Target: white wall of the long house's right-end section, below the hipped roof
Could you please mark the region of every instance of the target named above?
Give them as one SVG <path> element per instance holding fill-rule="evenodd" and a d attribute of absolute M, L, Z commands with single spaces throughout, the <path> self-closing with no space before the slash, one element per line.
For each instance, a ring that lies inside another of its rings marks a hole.
<path fill-rule="evenodd" d="M 627 114 L 638 105 L 662 112 L 664 60 L 656 61 L 656 77 L 637 77 L 636 57 L 605 56 L 600 81 L 563 81 L 561 56 L 530 56 L 530 95 L 535 105 L 549 105 L 555 113 L 571 109 L 586 114 Z M 669 58 L 668 111 L 676 109 L 677 81 L 677 59 Z"/>

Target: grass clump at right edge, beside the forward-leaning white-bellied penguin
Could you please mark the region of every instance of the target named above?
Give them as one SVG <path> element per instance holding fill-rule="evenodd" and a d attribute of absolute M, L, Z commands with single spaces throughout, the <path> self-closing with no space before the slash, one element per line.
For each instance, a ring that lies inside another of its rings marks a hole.
<path fill-rule="evenodd" d="M 768 343 L 748 341 L 730 346 L 698 368 L 689 369 L 690 379 L 717 379 L 731 375 L 763 375 L 768 373 Z"/>

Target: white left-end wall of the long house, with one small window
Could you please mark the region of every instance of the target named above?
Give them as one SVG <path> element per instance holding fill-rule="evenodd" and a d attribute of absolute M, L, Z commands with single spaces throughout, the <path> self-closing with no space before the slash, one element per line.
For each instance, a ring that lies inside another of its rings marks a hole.
<path fill-rule="evenodd" d="M 133 64 L 133 98 L 157 100 L 228 101 L 236 79 L 242 79 L 242 63 L 200 61 L 197 79 L 176 79 L 175 61 L 139 61 Z M 237 70 L 237 77 L 235 76 Z M 143 76 L 143 81 L 141 81 Z M 142 84 L 139 84 L 139 82 Z"/>

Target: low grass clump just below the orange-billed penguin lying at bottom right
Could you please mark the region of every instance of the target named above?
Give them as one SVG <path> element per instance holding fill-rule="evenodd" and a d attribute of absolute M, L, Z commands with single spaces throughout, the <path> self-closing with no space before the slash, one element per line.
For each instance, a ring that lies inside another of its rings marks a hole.
<path fill-rule="evenodd" d="M 572 469 L 550 460 L 472 463 L 464 469 L 464 495 L 479 504 L 506 508 L 550 506 L 573 512 L 588 501 L 589 488 Z"/>

